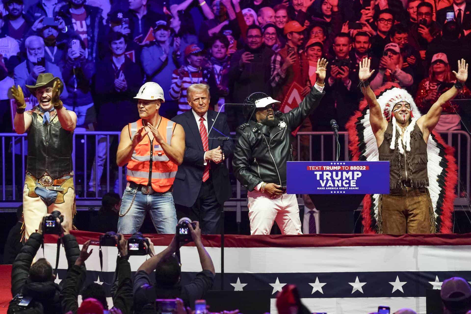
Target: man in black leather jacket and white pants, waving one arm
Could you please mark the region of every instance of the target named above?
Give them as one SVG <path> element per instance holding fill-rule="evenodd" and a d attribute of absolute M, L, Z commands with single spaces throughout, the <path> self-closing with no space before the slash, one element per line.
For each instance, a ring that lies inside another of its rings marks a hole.
<path fill-rule="evenodd" d="M 316 84 L 288 113 L 275 111 L 280 102 L 265 93 L 252 93 L 245 99 L 249 122 L 237 129 L 232 169 L 248 190 L 251 234 L 269 234 L 275 221 L 283 234 L 302 234 L 296 195 L 286 193 L 286 162 L 293 160 L 291 132 L 325 95 L 326 67 L 326 59 L 317 60 Z"/>

